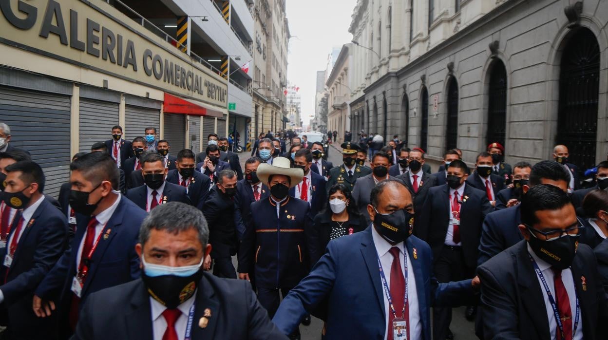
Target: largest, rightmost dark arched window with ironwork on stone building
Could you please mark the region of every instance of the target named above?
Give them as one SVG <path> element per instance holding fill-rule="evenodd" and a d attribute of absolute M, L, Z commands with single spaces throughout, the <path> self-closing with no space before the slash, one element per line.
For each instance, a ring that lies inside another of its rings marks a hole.
<path fill-rule="evenodd" d="M 559 74 L 558 144 L 579 170 L 595 166 L 599 99 L 599 45 L 593 32 L 579 28 L 563 49 Z"/>

